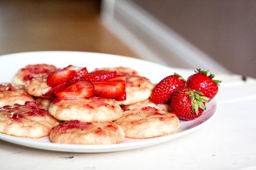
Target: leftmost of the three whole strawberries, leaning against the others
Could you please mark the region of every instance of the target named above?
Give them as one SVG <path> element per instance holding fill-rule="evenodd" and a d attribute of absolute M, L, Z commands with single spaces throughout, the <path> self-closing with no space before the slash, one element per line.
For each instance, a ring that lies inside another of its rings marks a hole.
<path fill-rule="evenodd" d="M 152 90 L 151 101 L 156 104 L 168 103 L 175 89 L 185 86 L 185 83 L 185 79 L 177 73 L 165 77 Z"/>

